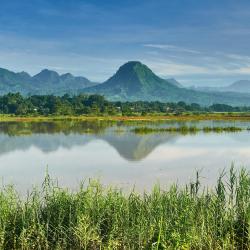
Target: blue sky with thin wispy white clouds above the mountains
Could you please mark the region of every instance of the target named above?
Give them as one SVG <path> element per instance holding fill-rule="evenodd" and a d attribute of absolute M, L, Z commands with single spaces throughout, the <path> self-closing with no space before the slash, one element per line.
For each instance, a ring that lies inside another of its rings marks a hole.
<path fill-rule="evenodd" d="M 250 80 L 249 0 L 0 0 L 0 67 L 102 82 L 136 60 L 185 86 Z"/>

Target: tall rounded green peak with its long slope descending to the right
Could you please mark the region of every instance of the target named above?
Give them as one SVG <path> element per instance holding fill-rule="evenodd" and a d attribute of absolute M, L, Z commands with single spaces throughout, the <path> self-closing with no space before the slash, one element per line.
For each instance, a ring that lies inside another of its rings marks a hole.
<path fill-rule="evenodd" d="M 250 94 L 206 92 L 180 87 L 173 79 L 162 79 L 146 65 L 137 61 L 125 63 L 104 83 L 79 90 L 79 92 L 102 94 L 114 101 L 184 101 L 201 105 L 214 103 L 250 105 Z"/>

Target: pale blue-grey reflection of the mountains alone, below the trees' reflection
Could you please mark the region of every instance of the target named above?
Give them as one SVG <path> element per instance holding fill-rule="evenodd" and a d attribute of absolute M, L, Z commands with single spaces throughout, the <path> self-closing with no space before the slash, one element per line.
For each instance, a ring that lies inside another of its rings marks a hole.
<path fill-rule="evenodd" d="M 115 148 L 126 160 L 138 161 L 149 155 L 162 143 L 173 143 L 178 135 L 145 135 L 139 136 L 129 132 L 122 135 L 114 133 L 100 135 L 76 135 L 76 134 L 32 134 L 25 136 L 0 135 L 0 155 L 16 150 L 28 150 L 31 147 L 38 148 L 44 153 L 55 152 L 60 148 L 72 149 L 75 146 L 84 146 L 94 140 L 103 140 Z"/>

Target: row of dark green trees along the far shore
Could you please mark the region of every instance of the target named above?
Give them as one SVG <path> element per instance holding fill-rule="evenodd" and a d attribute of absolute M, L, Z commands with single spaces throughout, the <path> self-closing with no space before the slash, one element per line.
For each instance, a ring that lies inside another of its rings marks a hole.
<path fill-rule="evenodd" d="M 182 114 L 184 112 L 248 112 L 250 107 L 232 107 L 214 104 L 202 107 L 197 103 L 186 104 L 147 102 L 111 102 L 100 95 L 64 96 L 33 95 L 19 93 L 0 96 L 0 113 L 14 115 L 147 115 L 152 113 Z"/>

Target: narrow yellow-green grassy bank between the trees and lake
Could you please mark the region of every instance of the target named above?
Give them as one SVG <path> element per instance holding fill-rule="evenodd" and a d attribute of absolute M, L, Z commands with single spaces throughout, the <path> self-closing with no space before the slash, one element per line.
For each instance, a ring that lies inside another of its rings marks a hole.
<path fill-rule="evenodd" d="M 131 115 L 131 116 L 101 116 L 101 115 L 79 115 L 79 116 L 15 116 L 15 115 L 0 115 L 0 122 L 9 121 L 63 121 L 63 120 L 75 120 L 75 121 L 199 121 L 199 120 L 229 120 L 229 121 L 250 121 L 250 113 L 183 113 L 179 115 L 175 114 L 149 114 L 149 115 Z"/>

